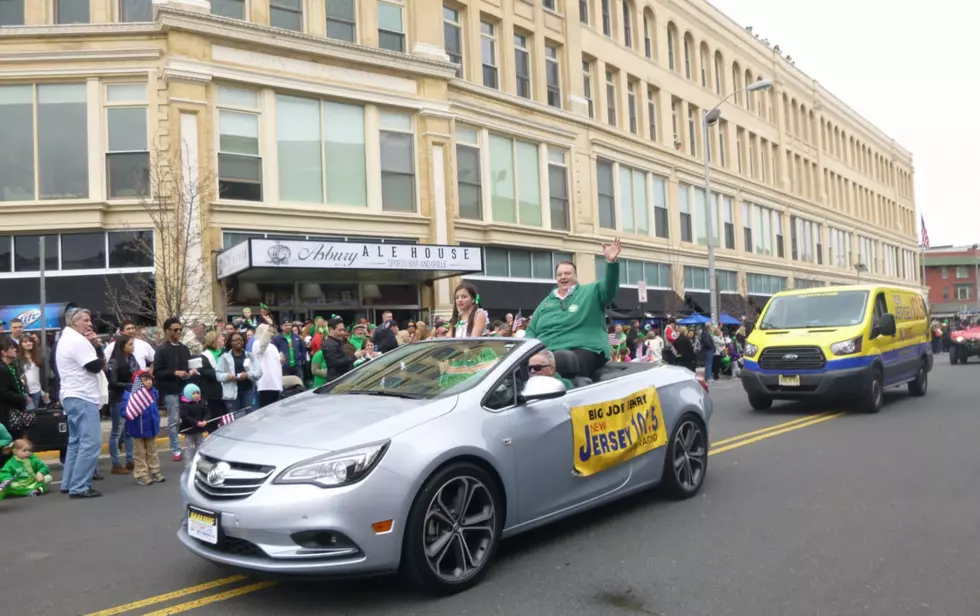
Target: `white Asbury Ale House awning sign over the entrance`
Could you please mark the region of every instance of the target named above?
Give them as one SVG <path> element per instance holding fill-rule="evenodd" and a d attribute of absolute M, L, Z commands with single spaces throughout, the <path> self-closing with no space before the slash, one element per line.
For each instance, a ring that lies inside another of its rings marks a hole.
<path fill-rule="evenodd" d="M 483 271 L 479 247 L 248 239 L 217 256 L 218 279 L 423 282 Z"/>

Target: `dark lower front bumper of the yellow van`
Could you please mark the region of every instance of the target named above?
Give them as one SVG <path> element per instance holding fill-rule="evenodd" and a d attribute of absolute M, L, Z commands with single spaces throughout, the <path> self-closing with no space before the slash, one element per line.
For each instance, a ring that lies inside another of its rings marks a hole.
<path fill-rule="evenodd" d="M 871 375 L 870 366 L 800 374 L 798 387 L 783 387 L 779 385 L 779 374 L 743 370 L 741 381 L 746 393 L 775 400 L 841 400 L 867 391 L 866 386 L 870 383 Z"/>

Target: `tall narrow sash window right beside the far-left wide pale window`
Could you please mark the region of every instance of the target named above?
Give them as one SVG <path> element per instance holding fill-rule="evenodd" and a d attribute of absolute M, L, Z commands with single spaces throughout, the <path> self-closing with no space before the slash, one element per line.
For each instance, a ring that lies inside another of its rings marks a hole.
<path fill-rule="evenodd" d="M 106 86 L 106 194 L 110 199 L 150 194 L 146 84 Z"/>

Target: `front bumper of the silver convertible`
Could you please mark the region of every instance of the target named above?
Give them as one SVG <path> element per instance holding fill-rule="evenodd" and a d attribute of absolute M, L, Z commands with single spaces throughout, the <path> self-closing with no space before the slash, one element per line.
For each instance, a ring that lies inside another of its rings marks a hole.
<path fill-rule="evenodd" d="M 202 558 L 276 576 L 343 577 L 398 568 L 412 499 L 403 493 L 404 478 L 381 466 L 344 488 L 276 485 L 270 479 L 237 500 L 209 498 L 195 486 L 193 471 L 181 477 L 184 513 L 177 537 Z M 189 506 L 216 514 L 217 545 L 189 535 Z M 394 520 L 390 531 L 371 528 L 385 520 Z"/>

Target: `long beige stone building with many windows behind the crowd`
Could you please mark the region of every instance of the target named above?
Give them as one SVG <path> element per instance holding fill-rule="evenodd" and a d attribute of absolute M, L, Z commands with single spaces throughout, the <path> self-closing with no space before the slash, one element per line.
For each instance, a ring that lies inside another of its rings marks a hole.
<path fill-rule="evenodd" d="M 702 0 L 0 0 L 2 303 L 40 234 L 49 301 L 153 272 L 139 186 L 178 154 L 218 312 L 415 318 L 463 275 L 526 314 L 613 237 L 615 309 L 707 310 L 711 231 L 734 314 L 918 285 L 911 154 Z"/>

